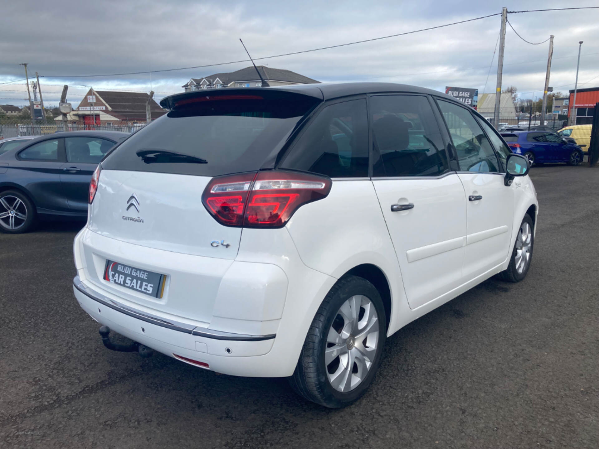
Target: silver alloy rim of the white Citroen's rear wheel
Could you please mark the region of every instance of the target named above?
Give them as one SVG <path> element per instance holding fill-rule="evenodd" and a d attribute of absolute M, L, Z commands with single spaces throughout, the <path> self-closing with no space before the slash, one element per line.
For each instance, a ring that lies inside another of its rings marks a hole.
<path fill-rule="evenodd" d="M 344 302 L 329 328 L 325 369 L 331 386 L 347 393 L 368 375 L 379 344 L 379 317 L 370 299 L 355 295 Z"/>

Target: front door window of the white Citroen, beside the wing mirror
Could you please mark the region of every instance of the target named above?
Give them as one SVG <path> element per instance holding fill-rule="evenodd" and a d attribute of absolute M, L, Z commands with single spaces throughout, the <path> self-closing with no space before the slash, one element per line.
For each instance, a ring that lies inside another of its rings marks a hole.
<path fill-rule="evenodd" d="M 499 163 L 491 142 L 466 108 L 439 101 L 458 156 L 461 171 L 498 172 Z"/>

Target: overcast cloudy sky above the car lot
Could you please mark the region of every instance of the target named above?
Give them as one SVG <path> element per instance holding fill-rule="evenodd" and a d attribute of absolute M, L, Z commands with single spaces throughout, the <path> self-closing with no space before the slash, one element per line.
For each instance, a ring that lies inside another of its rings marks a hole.
<path fill-rule="evenodd" d="M 501 7 L 597 6 L 597 1 L 374 1 L 202 2 L 183 0 L 19 0 L 4 2 L 0 15 L 0 83 L 39 72 L 44 103 L 58 104 L 63 84 L 78 104 L 87 87 L 155 90 L 156 97 L 181 92 L 189 78 L 229 72 L 249 63 L 116 77 L 116 74 L 207 65 L 290 53 L 398 34 L 488 14 Z M 528 41 L 555 35 L 550 86 L 574 88 L 578 41 L 582 45 L 579 87 L 599 86 L 599 10 L 509 14 Z M 445 86 L 494 92 L 495 45 L 501 16 L 364 44 L 258 61 L 319 81 L 388 81 L 436 90 Z M 523 98 L 543 90 L 549 43 L 530 45 L 507 28 L 503 86 Z M 493 63 L 491 65 L 491 60 Z M 491 66 L 490 75 L 489 66 Z M 24 81 L 0 84 L 0 104 L 26 103 Z"/>

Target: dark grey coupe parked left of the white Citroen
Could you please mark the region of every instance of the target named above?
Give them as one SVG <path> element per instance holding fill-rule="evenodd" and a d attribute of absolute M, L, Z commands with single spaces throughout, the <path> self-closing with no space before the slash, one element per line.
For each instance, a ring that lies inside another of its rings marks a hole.
<path fill-rule="evenodd" d="M 0 154 L 0 230 L 26 232 L 38 218 L 85 219 L 93 171 L 108 150 L 128 136 L 60 132 Z"/>

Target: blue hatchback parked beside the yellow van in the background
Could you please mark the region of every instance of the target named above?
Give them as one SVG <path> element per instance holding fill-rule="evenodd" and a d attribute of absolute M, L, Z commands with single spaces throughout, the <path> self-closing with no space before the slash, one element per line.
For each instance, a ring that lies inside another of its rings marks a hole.
<path fill-rule="evenodd" d="M 501 136 L 514 153 L 526 156 L 531 165 L 546 162 L 579 165 L 582 162 L 582 148 L 550 132 L 512 131 Z"/>

